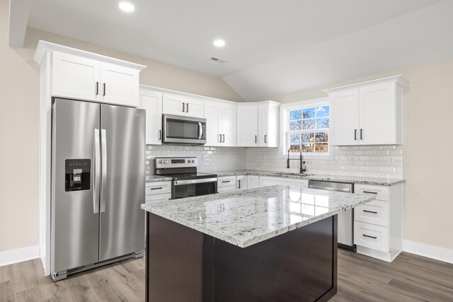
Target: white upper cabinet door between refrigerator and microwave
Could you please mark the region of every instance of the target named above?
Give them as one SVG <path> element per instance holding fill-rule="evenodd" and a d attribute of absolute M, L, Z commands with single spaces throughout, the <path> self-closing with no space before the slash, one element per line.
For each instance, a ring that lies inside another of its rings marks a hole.
<path fill-rule="evenodd" d="M 162 93 L 141 91 L 139 108 L 147 110 L 146 141 L 148 145 L 162 144 Z"/>

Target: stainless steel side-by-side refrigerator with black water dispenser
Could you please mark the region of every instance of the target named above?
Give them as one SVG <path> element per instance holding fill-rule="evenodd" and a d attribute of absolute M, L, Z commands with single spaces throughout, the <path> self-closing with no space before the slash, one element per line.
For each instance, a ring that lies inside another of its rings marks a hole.
<path fill-rule="evenodd" d="M 144 250 L 145 111 L 52 103 L 54 280 Z"/>

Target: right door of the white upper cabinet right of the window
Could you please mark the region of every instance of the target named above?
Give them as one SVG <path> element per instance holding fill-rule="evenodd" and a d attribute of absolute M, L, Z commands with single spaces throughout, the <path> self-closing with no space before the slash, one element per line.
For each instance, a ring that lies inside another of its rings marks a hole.
<path fill-rule="evenodd" d="M 360 144 L 396 144 L 393 83 L 360 88 Z"/>

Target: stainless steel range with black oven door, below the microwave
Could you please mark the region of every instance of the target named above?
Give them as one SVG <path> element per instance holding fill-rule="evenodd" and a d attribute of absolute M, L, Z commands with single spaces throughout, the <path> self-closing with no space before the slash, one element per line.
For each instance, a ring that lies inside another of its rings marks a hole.
<path fill-rule="evenodd" d="M 156 175 L 173 178 L 171 199 L 217 193 L 217 175 L 198 173 L 196 157 L 156 157 Z"/>

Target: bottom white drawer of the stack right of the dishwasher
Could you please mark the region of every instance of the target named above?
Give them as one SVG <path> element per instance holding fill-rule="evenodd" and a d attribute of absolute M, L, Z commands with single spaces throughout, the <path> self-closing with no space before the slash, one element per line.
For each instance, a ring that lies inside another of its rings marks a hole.
<path fill-rule="evenodd" d="M 389 228 L 355 221 L 354 244 L 389 252 Z"/>

